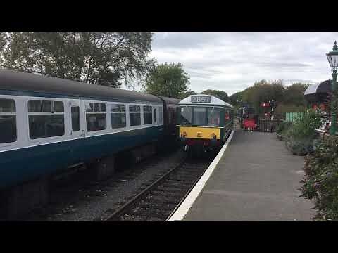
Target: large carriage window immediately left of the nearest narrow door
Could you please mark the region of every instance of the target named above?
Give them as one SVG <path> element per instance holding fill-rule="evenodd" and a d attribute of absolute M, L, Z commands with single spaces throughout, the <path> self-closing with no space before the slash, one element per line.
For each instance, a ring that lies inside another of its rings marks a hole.
<path fill-rule="evenodd" d="M 28 101 L 30 138 L 46 138 L 65 134 L 63 102 L 51 100 Z"/>

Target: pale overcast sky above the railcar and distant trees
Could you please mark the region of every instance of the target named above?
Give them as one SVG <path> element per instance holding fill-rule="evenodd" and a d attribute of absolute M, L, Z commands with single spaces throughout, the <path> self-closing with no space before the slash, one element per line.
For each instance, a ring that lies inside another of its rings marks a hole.
<path fill-rule="evenodd" d="M 261 79 L 315 83 L 331 78 L 325 53 L 338 32 L 155 32 L 150 57 L 184 65 L 189 89 L 229 95 Z"/>

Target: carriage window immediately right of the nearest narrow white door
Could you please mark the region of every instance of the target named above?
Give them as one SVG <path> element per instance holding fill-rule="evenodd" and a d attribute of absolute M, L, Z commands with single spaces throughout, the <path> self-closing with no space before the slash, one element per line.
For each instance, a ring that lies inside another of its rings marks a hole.
<path fill-rule="evenodd" d="M 87 103 L 86 122 L 87 131 L 100 131 L 107 128 L 106 122 L 106 104 L 104 103 Z"/>

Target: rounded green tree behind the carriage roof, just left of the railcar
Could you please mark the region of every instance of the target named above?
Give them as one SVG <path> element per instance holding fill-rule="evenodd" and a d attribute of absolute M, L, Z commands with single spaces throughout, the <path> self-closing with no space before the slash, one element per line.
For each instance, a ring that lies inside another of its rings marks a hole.
<path fill-rule="evenodd" d="M 187 91 L 189 75 L 181 63 L 161 64 L 147 75 L 144 90 L 156 96 L 180 98 Z"/>

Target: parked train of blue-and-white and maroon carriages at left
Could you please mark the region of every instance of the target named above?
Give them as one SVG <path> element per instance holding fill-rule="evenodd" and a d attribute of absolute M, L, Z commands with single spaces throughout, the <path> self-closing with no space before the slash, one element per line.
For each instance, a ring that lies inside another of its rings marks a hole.
<path fill-rule="evenodd" d="M 0 70 L 0 188 L 146 143 L 163 143 L 176 133 L 177 103 Z"/>

